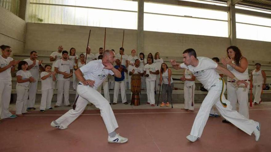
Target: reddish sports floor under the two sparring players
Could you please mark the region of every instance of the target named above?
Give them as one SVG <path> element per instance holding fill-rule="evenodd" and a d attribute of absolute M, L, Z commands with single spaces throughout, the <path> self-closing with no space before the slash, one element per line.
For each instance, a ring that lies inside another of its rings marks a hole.
<path fill-rule="evenodd" d="M 260 141 L 222 118 L 210 117 L 202 137 L 192 143 L 190 133 L 195 112 L 180 108 L 114 110 L 116 130 L 127 137 L 124 144 L 108 143 L 98 110 L 85 110 L 66 130 L 50 127 L 67 110 L 54 110 L 0 123 L 0 152 L 270 152 L 271 104 L 250 107 L 250 119 L 261 122 Z M 13 111 L 14 112 L 14 111 Z"/>

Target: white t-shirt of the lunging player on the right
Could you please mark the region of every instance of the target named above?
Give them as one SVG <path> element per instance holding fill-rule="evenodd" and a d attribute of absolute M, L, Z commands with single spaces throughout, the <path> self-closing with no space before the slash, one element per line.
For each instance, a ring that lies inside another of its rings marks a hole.
<path fill-rule="evenodd" d="M 189 69 L 193 75 L 203 84 L 204 88 L 209 90 L 212 85 L 219 81 L 220 76 L 216 73 L 217 63 L 208 57 L 197 57 L 199 64 L 196 67 L 192 65 L 180 64 L 181 68 Z"/>

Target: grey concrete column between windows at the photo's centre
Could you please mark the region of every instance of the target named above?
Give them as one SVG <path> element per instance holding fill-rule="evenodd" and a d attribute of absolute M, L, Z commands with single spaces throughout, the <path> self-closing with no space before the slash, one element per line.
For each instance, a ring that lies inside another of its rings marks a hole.
<path fill-rule="evenodd" d="M 137 55 L 144 52 L 144 0 L 137 1 Z"/>

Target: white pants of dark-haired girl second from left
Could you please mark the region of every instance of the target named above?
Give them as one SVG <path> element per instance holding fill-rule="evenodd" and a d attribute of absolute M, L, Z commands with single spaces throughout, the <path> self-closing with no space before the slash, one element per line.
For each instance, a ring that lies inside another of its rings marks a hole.
<path fill-rule="evenodd" d="M 21 115 L 22 113 L 26 113 L 27 108 L 27 98 L 29 94 L 29 87 L 16 85 L 17 92 L 17 101 L 16 101 L 16 115 Z"/>

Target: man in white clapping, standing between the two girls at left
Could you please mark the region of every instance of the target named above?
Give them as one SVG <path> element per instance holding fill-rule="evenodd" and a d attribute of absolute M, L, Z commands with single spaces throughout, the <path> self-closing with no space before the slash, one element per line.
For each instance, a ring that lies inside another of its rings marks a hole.
<path fill-rule="evenodd" d="M 41 72 L 45 71 L 44 67 L 42 66 L 42 60 L 37 60 L 38 53 L 36 51 L 30 52 L 30 58 L 24 59 L 29 65 L 27 70 L 30 71 L 32 77 L 36 80 L 35 82 L 30 83 L 29 85 L 29 100 L 27 105 L 27 110 L 35 110 L 34 107 L 36 101 L 36 93 L 38 88 L 38 78 L 39 78 L 39 70 Z"/>

